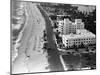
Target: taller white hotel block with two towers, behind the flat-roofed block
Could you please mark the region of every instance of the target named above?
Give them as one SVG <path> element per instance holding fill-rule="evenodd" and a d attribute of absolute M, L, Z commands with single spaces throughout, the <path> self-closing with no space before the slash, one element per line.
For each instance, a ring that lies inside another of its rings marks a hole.
<path fill-rule="evenodd" d="M 58 30 L 61 34 L 76 34 L 77 29 L 84 29 L 84 23 L 81 19 L 76 19 L 75 23 L 72 23 L 69 19 L 64 19 L 62 21 L 58 21 Z"/>

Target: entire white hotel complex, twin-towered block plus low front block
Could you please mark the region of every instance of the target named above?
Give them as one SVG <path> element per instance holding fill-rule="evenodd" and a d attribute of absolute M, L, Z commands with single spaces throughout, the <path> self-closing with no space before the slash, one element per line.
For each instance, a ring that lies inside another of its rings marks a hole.
<path fill-rule="evenodd" d="M 84 23 L 81 19 L 76 19 L 72 23 L 69 19 L 64 19 L 58 22 L 58 30 L 61 32 L 62 42 L 66 47 L 71 47 L 73 44 L 79 46 L 82 43 L 95 44 L 95 34 L 84 29 Z"/>

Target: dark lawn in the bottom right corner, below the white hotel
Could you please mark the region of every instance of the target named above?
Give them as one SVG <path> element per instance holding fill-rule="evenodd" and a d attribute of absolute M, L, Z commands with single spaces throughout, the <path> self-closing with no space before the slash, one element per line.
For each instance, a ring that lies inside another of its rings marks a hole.
<path fill-rule="evenodd" d="M 66 66 L 70 70 L 77 70 L 76 68 L 96 67 L 96 54 L 94 53 L 81 53 L 80 55 L 62 55 Z"/>

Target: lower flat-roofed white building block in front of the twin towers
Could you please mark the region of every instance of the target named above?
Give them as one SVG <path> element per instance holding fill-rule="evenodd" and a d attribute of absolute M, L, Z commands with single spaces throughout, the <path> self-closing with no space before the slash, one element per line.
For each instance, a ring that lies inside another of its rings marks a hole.
<path fill-rule="evenodd" d="M 71 47 L 74 44 L 76 46 L 87 44 L 95 44 L 95 35 L 85 29 L 76 30 L 76 34 L 62 35 L 62 42 L 66 47 Z"/>

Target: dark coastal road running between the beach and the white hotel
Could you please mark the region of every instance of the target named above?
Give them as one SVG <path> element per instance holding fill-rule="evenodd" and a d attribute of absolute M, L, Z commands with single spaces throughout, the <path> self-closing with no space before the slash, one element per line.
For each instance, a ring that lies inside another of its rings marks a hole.
<path fill-rule="evenodd" d="M 54 41 L 54 32 L 52 29 L 52 22 L 45 12 L 43 8 L 40 5 L 37 5 L 41 14 L 43 15 L 45 22 L 46 22 L 46 32 L 47 32 L 47 41 L 49 43 L 49 48 L 51 49 L 48 52 L 49 58 L 48 58 L 48 63 L 50 64 L 50 69 L 51 71 L 63 71 L 63 65 L 60 60 L 60 54 L 57 49 L 56 43 Z"/>

